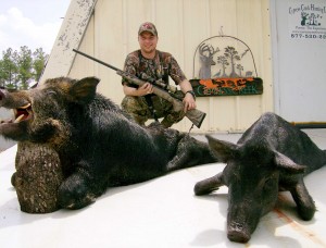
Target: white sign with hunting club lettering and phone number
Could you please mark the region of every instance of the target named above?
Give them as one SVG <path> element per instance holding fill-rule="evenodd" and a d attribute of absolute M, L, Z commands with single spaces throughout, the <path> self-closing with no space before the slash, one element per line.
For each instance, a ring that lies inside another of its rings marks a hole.
<path fill-rule="evenodd" d="M 289 2 L 289 36 L 296 40 L 326 40 L 326 1 Z"/>

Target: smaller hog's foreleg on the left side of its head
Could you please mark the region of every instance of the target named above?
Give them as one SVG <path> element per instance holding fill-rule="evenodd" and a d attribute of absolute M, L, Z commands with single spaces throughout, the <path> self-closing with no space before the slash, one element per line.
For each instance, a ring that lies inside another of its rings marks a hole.
<path fill-rule="evenodd" d="M 221 186 L 225 185 L 223 183 L 223 172 L 217 175 L 200 181 L 195 185 L 196 196 L 208 195 L 214 190 L 217 190 Z"/>

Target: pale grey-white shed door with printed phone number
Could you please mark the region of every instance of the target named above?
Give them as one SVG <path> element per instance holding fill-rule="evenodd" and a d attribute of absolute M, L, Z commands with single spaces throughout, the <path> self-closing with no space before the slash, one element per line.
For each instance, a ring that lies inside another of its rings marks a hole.
<path fill-rule="evenodd" d="M 326 1 L 271 0 L 275 111 L 326 122 Z"/>

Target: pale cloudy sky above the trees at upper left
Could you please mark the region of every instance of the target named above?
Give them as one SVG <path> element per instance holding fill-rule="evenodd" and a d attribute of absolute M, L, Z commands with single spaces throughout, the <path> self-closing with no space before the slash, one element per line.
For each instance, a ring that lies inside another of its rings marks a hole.
<path fill-rule="evenodd" d="M 71 0 L 0 0 L 0 54 L 8 48 L 50 54 Z"/>

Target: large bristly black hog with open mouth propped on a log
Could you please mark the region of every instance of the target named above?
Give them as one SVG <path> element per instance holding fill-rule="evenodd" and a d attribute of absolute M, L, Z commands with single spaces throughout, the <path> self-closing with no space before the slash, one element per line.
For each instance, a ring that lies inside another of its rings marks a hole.
<path fill-rule="evenodd" d="M 16 115 L 14 122 L 1 123 L 0 134 L 18 142 L 47 146 L 58 153 L 63 174 L 57 194 L 61 208 L 79 209 L 108 187 L 216 161 L 206 142 L 188 134 L 159 124 L 136 124 L 110 99 L 96 92 L 98 83 L 96 77 L 60 77 L 30 90 L 0 91 L 0 106 L 13 109 Z M 24 152 L 37 153 L 28 149 Z"/>

